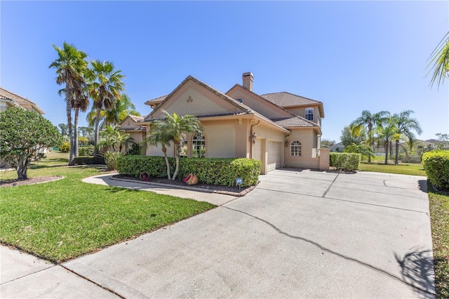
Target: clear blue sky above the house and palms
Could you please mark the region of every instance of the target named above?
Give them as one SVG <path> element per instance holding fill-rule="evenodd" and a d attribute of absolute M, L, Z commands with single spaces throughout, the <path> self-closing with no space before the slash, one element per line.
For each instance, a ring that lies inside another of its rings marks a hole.
<path fill-rule="evenodd" d="M 323 138 L 363 109 L 415 111 L 420 139 L 449 133 L 449 81 L 429 86 L 427 59 L 449 30 L 449 1 L 1 1 L 0 85 L 66 123 L 52 44 L 109 60 L 146 100 L 192 75 L 226 92 L 253 72 L 255 93 L 324 104 Z M 81 115 L 80 126 L 86 126 Z"/>

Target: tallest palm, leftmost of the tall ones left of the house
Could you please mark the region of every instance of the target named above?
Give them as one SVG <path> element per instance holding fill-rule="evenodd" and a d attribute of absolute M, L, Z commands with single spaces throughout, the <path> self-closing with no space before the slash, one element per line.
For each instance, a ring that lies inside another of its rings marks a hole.
<path fill-rule="evenodd" d="M 73 165 L 73 159 L 78 155 L 78 137 L 77 134 L 74 134 L 72 131 L 72 108 L 83 109 L 86 104 L 86 99 L 84 99 L 83 93 L 86 85 L 85 74 L 88 65 L 88 62 L 86 61 L 87 54 L 83 51 L 79 51 L 74 45 L 67 44 L 66 42 L 64 42 L 62 48 L 55 45 L 53 45 L 53 48 L 55 48 L 58 53 L 58 58 L 51 63 L 49 68 L 56 69 L 56 83 L 58 85 L 65 84 L 65 88 L 58 93 L 60 95 L 65 95 L 70 140 L 69 165 Z M 75 133 L 78 131 L 77 126 L 76 114 L 74 124 Z"/>

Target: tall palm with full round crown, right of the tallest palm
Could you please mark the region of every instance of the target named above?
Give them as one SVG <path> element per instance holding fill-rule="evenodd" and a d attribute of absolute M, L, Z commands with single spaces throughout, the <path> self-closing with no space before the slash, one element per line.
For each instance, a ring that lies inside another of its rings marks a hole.
<path fill-rule="evenodd" d="M 93 107 L 97 109 L 95 117 L 95 150 L 94 156 L 98 155 L 98 132 L 102 108 L 110 110 L 115 107 L 117 100 L 121 99 L 121 91 L 124 90 L 123 74 L 120 70 L 114 70 L 112 62 L 98 60 L 91 61 L 91 83 L 90 95 L 93 99 Z"/>

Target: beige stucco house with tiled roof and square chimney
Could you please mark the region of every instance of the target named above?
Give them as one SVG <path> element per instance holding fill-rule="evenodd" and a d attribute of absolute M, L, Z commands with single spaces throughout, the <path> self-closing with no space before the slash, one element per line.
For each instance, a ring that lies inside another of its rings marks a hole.
<path fill-rule="evenodd" d="M 189 76 L 170 94 L 145 102 L 153 109 L 145 119 L 133 123 L 132 117 L 127 118 L 121 128 L 139 140 L 144 138 L 139 128 L 146 126 L 151 134 L 151 121 L 163 118 L 163 110 L 192 114 L 205 132 L 182 136 L 181 157 L 258 159 L 261 174 L 283 167 L 327 170 L 329 149 L 320 149 L 323 103 L 286 92 L 257 95 L 253 74 L 246 72 L 242 78 L 242 85 L 222 93 Z M 155 146 L 148 147 L 146 154 L 163 155 Z M 174 157 L 173 146 L 168 155 Z"/>

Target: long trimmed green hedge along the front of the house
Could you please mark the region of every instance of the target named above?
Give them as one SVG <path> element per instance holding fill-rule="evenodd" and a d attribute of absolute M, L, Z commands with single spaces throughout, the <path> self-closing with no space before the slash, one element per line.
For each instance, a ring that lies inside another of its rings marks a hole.
<path fill-rule="evenodd" d="M 170 175 L 175 171 L 175 158 L 168 158 Z M 259 178 L 262 163 L 246 158 L 182 158 L 177 179 L 185 178 L 189 173 L 198 176 L 205 184 L 235 186 L 236 178 L 243 179 L 243 187 L 255 185 Z M 122 156 L 117 159 L 117 171 L 120 174 L 139 178 L 142 171 L 156 178 L 167 178 L 167 166 L 164 157 Z"/>

